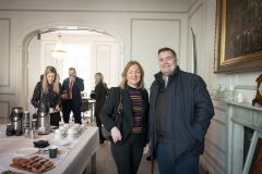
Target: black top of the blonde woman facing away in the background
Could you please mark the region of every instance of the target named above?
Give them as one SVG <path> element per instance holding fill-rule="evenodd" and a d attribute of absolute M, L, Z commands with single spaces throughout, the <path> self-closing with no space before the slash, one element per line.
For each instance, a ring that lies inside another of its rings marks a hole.
<path fill-rule="evenodd" d="M 103 85 L 103 83 L 99 83 L 95 87 L 95 116 L 99 116 L 99 112 L 106 101 L 106 96 L 107 96 L 107 89 Z"/>

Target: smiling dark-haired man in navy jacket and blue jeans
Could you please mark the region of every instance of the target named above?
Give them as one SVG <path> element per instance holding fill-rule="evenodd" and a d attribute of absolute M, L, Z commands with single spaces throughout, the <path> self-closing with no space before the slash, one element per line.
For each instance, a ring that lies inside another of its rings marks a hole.
<path fill-rule="evenodd" d="M 177 61 L 172 49 L 158 50 L 160 72 L 150 97 L 151 157 L 160 174 L 198 174 L 214 107 L 204 80 L 182 72 Z"/>

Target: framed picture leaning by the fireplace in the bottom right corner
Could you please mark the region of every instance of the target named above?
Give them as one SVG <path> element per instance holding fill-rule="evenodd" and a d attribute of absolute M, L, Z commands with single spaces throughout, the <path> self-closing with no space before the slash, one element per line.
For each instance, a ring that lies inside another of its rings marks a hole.
<path fill-rule="evenodd" d="M 262 133 L 254 130 L 253 137 L 250 144 L 248 156 L 245 162 L 243 172 L 246 174 L 252 174 L 257 170 L 262 169 Z M 259 173 L 261 173 L 259 171 Z"/>

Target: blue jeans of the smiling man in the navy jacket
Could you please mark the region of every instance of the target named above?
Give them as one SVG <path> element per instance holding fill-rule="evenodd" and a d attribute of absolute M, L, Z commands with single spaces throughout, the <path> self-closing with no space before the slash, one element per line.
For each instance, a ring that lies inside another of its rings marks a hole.
<path fill-rule="evenodd" d="M 157 144 L 156 160 L 159 174 L 199 174 L 199 157 L 189 157 L 175 165 L 169 165 L 167 144 Z"/>

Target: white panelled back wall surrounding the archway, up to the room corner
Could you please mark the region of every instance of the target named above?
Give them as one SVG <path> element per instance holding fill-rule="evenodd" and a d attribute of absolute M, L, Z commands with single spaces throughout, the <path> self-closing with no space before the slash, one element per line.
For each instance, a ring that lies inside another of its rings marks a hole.
<path fill-rule="evenodd" d="M 23 80 L 22 70 L 26 66 L 23 59 L 27 59 L 28 52 L 23 44 L 27 44 L 26 40 L 41 28 L 95 26 L 117 36 L 117 41 L 120 41 L 117 49 L 120 51 L 116 55 L 118 73 L 115 84 L 119 83 L 123 65 L 130 60 L 138 60 L 145 69 L 146 87 L 150 88 L 153 74 L 158 72 L 157 50 L 166 46 L 176 49 L 178 57 L 183 58 L 180 60 L 181 69 L 187 69 L 187 1 L 60 2 L 0 1 L 0 27 L 4 36 L 4 47 L 0 48 L 3 62 L 0 70 L 7 72 L 4 80 L 0 82 L 1 117 L 7 117 L 15 105 L 26 108 L 26 82 Z M 143 40 L 136 45 L 140 38 Z"/>

